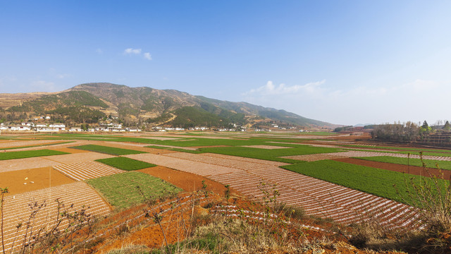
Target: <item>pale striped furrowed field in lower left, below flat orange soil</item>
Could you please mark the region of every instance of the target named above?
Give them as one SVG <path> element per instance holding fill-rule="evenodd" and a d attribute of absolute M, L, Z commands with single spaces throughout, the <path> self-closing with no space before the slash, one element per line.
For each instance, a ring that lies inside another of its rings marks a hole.
<path fill-rule="evenodd" d="M 17 236 L 15 246 L 18 246 L 18 241 L 23 241 L 23 236 L 26 231 L 26 225 L 29 221 L 34 204 L 45 204 L 32 219 L 30 226 L 36 232 L 41 228 L 49 229 L 56 225 L 56 216 L 58 215 L 58 199 L 64 205 L 59 212 L 67 210 L 70 213 L 80 210 L 86 210 L 87 214 L 96 216 L 105 216 L 109 214 L 111 208 L 85 182 L 69 183 L 62 186 L 56 186 L 39 191 L 32 191 L 29 193 L 21 193 L 14 196 L 8 196 L 4 202 L 4 240 L 5 249 L 8 250 L 13 244 L 15 236 Z M 18 224 L 22 226 L 18 229 Z M 61 225 L 65 226 L 64 224 Z M 28 236 L 30 236 L 30 229 L 28 229 Z"/>

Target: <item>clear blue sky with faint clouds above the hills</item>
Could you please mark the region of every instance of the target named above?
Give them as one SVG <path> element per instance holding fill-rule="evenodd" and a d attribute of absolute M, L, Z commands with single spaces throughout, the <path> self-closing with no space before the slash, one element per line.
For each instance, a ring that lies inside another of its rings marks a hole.
<path fill-rule="evenodd" d="M 451 1 L 4 1 L 0 92 L 175 89 L 330 123 L 451 120 Z"/>

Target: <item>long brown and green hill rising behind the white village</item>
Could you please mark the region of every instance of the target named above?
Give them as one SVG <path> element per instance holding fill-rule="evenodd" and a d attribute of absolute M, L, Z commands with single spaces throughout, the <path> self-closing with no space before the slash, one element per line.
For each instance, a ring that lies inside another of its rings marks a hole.
<path fill-rule="evenodd" d="M 285 110 L 247 102 L 227 102 L 178 90 L 111 83 L 87 83 L 56 93 L 0 94 L 0 106 L 3 106 L 2 114 L 13 114 L 11 117 L 51 114 L 60 121 L 79 123 L 95 123 L 101 118 L 116 116 L 129 124 L 139 122 L 178 127 L 226 127 L 230 123 L 241 126 L 273 123 L 303 128 L 336 127 Z"/>

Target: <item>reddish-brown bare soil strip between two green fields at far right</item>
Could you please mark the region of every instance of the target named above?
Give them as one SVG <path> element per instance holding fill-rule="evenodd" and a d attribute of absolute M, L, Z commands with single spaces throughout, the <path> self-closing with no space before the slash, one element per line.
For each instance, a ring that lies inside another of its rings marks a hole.
<path fill-rule="evenodd" d="M 444 179 L 450 179 L 450 177 L 451 177 L 451 170 L 441 170 L 440 171 L 438 169 L 427 168 L 427 171 L 429 171 L 429 174 L 428 174 L 428 172 L 424 171 L 423 167 L 416 167 L 416 166 L 407 167 L 407 165 L 402 165 L 402 164 L 393 164 L 393 163 L 388 163 L 388 162 L 371 162 L 371 161 L 367 161 L 365 159 L 354 159 L 354 158 L 340 158 L 340 159 L 333 159 L 333 160 L 335 160 L 337 162 L 346 162 L 346 163 L 356 164 L 356 165 L 360 165 L 360 166 L 374 167 L 377 169 L 386 169 L 386 170 L 390 170 L 390 171 L 414 174 L 416 176 L 429 176 L 429 174 L 431 174 L 431 175 L 440 177 L 441 174 L 443 174 Z"/>

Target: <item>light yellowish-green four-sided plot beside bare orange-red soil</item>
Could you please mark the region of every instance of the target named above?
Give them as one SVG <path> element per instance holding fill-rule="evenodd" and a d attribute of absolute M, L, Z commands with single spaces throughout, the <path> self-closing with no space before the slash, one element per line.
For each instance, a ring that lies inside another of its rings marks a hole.
<path fill-rule="evenodd" d="M 138 205 L 146 200 L 169 197 L 183 191 L 171 183 L 136 171 L 102 176 L 86 182 L 99 191 L 113 207 L 119 209 Z M 140 186 L 139 189 L 137 186 Z M 144 193 L 145 198 L 140 191 Z"/>

